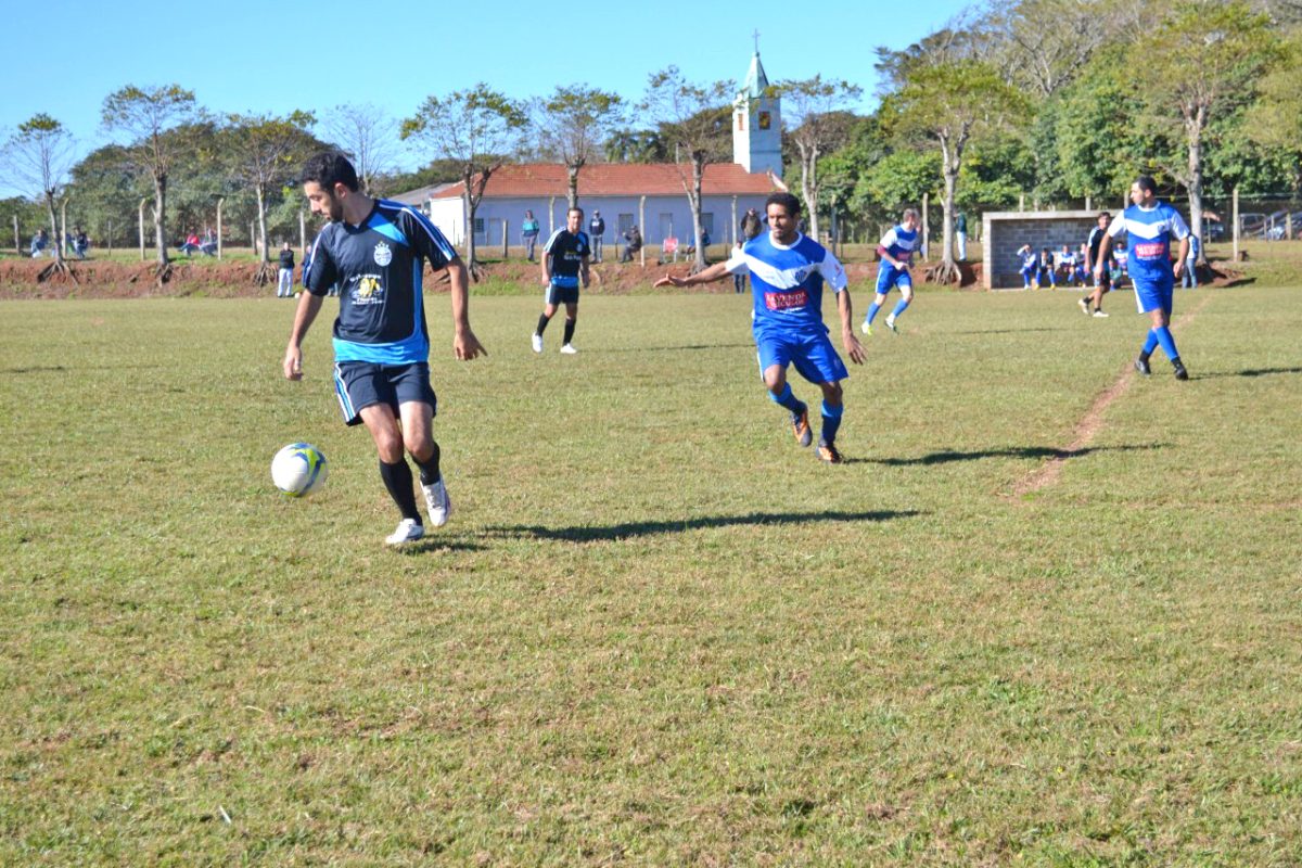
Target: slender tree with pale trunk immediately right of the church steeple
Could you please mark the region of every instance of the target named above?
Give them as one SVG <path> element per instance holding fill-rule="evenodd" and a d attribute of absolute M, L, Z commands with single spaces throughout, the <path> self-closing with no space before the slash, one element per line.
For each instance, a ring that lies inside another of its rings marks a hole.
<path fill-rule="evenodd" d="M 815 75 L 781 82 L 776 91 L 792 121 L 788 141 L 796 146 L 801 161 L 801 198 L 809 211 L 810 234 L 818 238 L 818 160 L 846 141 L 854 116 L 844 108 L 859 99 L 863 88 L 846 81 L 825 82 L 822 75 Z"/>

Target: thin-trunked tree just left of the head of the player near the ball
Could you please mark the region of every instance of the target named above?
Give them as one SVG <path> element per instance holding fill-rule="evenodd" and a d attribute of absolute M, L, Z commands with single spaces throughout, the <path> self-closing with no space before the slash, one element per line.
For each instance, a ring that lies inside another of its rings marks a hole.
<path fill-rule="evenodd" d="M 253 187 L 258 202 L 262 255 L 258 271 L 254 272 L 254 282 L 259 286 L 275 280 L 267 245 L 267 194 L 288 182 L 294 169 L 319 147 L 307 131 L 314 122 L 310 112 L 290 112 L 285 117 L 227 116 L 224 139 L 229 148 L 232 176 Z"/>

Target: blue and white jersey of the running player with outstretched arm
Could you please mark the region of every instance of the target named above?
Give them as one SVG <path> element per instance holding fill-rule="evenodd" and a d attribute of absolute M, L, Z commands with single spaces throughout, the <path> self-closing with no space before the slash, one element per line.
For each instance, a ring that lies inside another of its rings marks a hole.
<path fill-rule="evenodd" d="M 734 250 L 727 267 L 732 275 L 750 275 L 756 332 L 818 329 L 825 334 L 823 284 L 835 293 L 849 284 L 836 256 L 806 236 L 797 236 L 793 245 L 784 247 L 773 242 L 771 233 L 762 233 Z"/>

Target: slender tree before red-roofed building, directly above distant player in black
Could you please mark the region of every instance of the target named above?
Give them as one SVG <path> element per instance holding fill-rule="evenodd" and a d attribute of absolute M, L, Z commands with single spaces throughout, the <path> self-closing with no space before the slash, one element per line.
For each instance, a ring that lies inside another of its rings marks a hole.
<path fill-rule="evenodd" d="M 621 121 L 624 103 L 617 94 L 595 87 L 557 87 L 534 103 L 534 124 L 543 150 L 569 172 L 569 207 L 578 207 L 578 172 L 600 154 L 605 137 Z"/>

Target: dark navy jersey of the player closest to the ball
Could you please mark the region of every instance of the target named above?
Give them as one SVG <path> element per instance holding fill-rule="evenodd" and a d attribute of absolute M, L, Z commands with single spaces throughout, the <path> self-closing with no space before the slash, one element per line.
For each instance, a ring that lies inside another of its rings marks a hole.
<path fill-rule="evenodd" d="M 427 362 L 422 259 L 439 271 L 456 255 L 424 215 L 400 202 L 376 199 L 358 226 L 327 224 L 303 284 L 312 295 L 340 285 L 335 360 Z"/>

